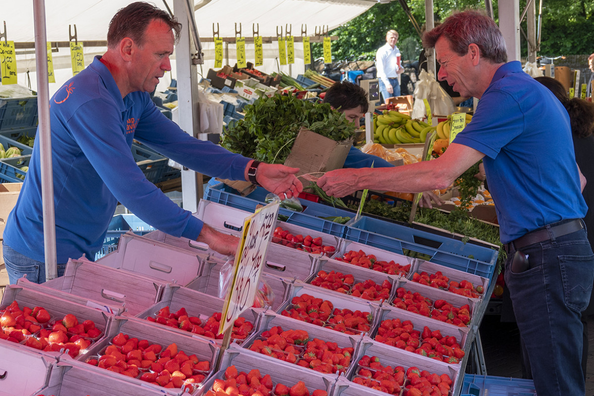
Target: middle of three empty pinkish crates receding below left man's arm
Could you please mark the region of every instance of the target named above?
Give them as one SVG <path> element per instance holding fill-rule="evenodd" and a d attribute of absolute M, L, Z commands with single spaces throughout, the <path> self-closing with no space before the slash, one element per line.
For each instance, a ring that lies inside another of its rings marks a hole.
<path fill-rule="evenodd" d="M 97 264 L 154 278 L 157 282 L 187 284 L 200 274 L 206 258 L 207 254 L 127 232 L 119 238 L 118 249 L 98 259 Z"/>

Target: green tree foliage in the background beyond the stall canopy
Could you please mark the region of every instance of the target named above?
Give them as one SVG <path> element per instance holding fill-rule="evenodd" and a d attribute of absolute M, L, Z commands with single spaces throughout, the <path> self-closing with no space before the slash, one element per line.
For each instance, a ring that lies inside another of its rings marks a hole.
<path fill-rule="evenodd" d="M 533 0 L 537 1 L 537 0 Z M 420 27 L 425 23 L 425 1 L 407 0 L 413 18 Z M 497 2 L 492 2 L 495 22 L 498 22 Z M 538 14 L 538 1 L 536 2 Z M 526 0 L 520 0 L 520 12 Z M 444 20 L 452 12 L 466 8 L 485 9 L 484 1 L 435 0 L 434 20 Z M 543 0 L 541 50 L 538 55 L 583 55 L 594 52 L 594 0 Z M 520 24 L 527 32 L 526 18 Z M 375 51 L 386 42 L 386 32 L 396 29 L 397 46 L 402 59 L 415 61 L 421 51 L 421 37 L 398 1 L 375 4 L 363 14 L 329 31 L 338 36 L 332 42 L 333 61 L 343 59 L 374 60 Z M 527 54 L 526 38 L 520 34 L 522 56 Z M 312 56 L 322 56 L 321 43 L 312 44 Z"/>

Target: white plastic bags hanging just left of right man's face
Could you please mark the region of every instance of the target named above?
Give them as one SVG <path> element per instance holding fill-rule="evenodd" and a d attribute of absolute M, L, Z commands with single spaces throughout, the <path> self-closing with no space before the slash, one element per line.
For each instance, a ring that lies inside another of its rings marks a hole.
<path fill-rule="evenodd" d="M 415 87 L 415 104 L 412 107 L 412 118 L 426 119 L 427 112 L 423 99 L 429 102 L 432 115 L 449 115 L 456 111 L 454 100 L 441 88 L 432 72 L 421 70 L 419 81 Z"/>

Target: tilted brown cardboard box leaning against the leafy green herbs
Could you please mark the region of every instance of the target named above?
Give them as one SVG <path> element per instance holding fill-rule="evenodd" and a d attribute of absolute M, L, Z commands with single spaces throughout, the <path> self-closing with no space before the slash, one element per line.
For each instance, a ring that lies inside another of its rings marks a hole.
<path fill-rule="evenodd" d="M 298 176 L 340 169 L 345 164 L 352 145 L 352 138 L 337 142 L 301 128 L 285 165 L 300 168 Z M 309 184 L 307 180 L 302 182 Z"/>

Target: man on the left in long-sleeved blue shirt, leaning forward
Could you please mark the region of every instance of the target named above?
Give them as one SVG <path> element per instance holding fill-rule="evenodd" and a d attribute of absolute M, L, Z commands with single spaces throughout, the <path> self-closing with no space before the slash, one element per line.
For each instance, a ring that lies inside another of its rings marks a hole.
<path fill-rule="evenodd" d="M 189 169 L 250 180 L 290 198 L 302 191 L 299 169 L 245 158 L 182 131 L 149 93 L 171 69 L 181 24 L 145 2 L 120 9 L 108 31 L 108 50 L 50 99 L 58 275 L 69 258 L 93 259 L 118 202 L 172 236 L 235 254 L 238 238 L 217 232 L 178 207 L 144 177 L 130 150 L 136 139 Z M 39 144 L 4 231 L 3 251 L 12 284 L 23 275 L 45 281 Z"/>

